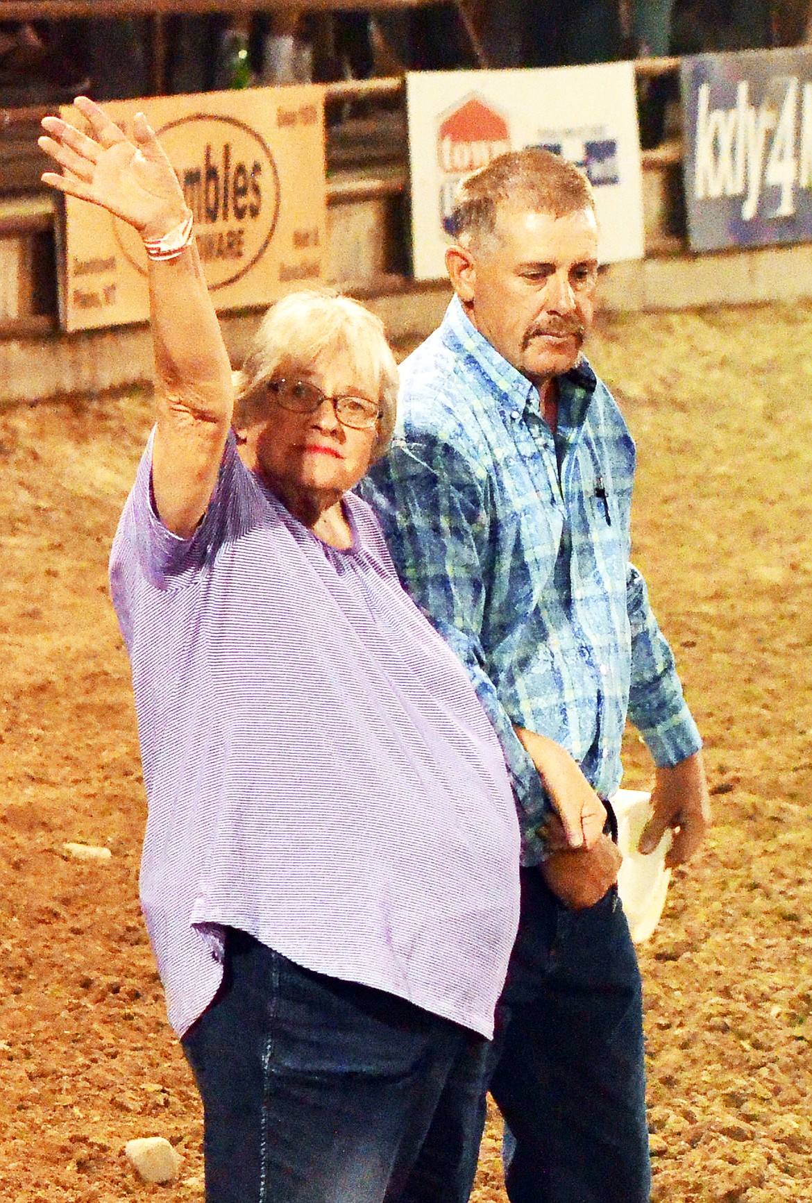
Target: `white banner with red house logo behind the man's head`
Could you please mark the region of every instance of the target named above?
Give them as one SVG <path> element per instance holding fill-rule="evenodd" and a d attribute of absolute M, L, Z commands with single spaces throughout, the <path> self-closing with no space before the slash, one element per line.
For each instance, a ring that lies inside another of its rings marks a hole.
<path fill-rule="evenodd" d="M 632 63 L 407 76 L 416 279 L 445 275 L 448 218 L 463 176 L 504 150 L 543 146 L 582 166 L 595 190 L 600 261 L 644 253 L 640 138 Z"/>

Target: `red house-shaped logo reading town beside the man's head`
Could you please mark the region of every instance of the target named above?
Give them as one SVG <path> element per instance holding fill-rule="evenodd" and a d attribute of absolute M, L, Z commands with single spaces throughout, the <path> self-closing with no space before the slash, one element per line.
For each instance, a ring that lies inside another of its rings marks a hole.
<path fill-rule="evenodd" d="M 451 206 L 460 180 L 505 150 L 510 150 L 508 122 L 476 95 L 468 96 L 440 122 L 437 156 L 441 173 L 440 219 L 446 232 L 451 232 Z"/>

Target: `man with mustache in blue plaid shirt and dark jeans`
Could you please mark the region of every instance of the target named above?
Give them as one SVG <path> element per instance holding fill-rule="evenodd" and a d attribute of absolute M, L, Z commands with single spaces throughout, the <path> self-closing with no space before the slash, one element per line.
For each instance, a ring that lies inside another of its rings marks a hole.
<path fill-rule="evenodd" d="M 670 829 L 669 864 L 687 860 L 709 822 L 701 740 L 629 563 L 634 444 L 581 354 L 591 185 L 557 155 L 511 152 L 463 182 L 452 229 L 456 295 L 402 366 L 399 428 L 363 492 L 468 668 L 518 806 L 522 918 L 491 1084 L 515 1137 L 508 1196 L 645 1203 L 640 976 L 606 800 L 628 712 L 657 766 L 641 851 Z"/>

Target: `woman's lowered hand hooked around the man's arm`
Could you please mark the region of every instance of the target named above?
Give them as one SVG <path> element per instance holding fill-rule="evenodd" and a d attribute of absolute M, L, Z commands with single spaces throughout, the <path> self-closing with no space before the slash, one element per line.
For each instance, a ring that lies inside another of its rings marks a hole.
<path fill-rule="evenodd" d="M 559 743 L 523 727 L 514 730 L 535 765 L 556 808 L 569 848 L 592 848 L 606 823 L 606 807 Z"/>

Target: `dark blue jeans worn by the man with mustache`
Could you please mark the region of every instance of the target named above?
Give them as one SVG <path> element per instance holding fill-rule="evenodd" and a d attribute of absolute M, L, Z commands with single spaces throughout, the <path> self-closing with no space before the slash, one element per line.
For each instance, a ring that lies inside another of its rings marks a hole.
<path fill-rule="evenodd" d="M 511 1203 L 646 1203 L 642 1001 L 617 891 L 569 911 L 522 870 L 491 1091 L 516 1139 Z"/>

